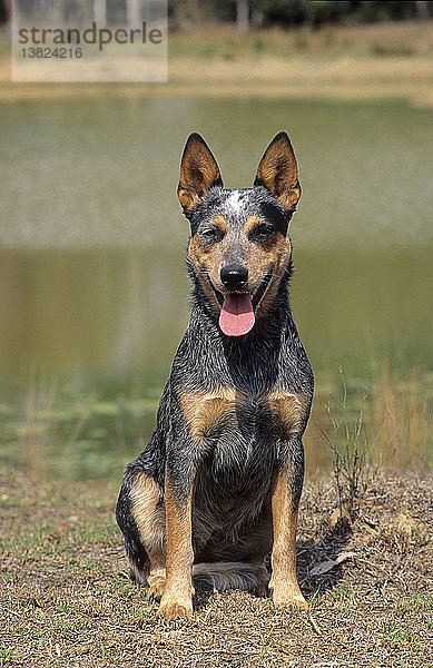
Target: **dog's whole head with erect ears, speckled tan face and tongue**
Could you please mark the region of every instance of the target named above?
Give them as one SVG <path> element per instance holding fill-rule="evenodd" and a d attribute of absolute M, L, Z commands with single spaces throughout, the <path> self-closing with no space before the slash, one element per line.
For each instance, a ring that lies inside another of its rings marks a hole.
<path fill-rule="evenodd" d="M 188 262 L 227 336 L 242 336 L 272 306 L 287 272 L 288 223 L 301 197 L 286 132 L 267 147 L 253 188 L 223 189 L 204 139 L 188 137 L 178 197 L 191 226 Z"/>

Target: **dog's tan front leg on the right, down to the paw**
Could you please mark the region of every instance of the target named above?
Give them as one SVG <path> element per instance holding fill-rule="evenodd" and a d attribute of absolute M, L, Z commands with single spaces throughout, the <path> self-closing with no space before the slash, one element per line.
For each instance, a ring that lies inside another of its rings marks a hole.
<path fill-rule="evenodd" d="M 279 470 L 272 494 L 274 546 L 270 556 L 269 589 L 278 608 L 306 610 L 296 577 L 297 512 L 304 479 L 304 449 L 301 439 L 291 443 L 288 461 Z"/>

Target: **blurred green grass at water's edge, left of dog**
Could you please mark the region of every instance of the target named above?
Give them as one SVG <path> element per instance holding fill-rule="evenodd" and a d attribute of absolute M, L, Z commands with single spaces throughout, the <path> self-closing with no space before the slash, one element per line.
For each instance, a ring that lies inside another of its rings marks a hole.
<path fill-rule="evenodd" d="M 108 386 L 30 382 L 13 403 L 0 404 L 0 461 L 66 480 L 120 474 L 138 452 L 137 441 L 151 433 L 160 389 L 147 387 L 142 399 L 118 383 Z"/>

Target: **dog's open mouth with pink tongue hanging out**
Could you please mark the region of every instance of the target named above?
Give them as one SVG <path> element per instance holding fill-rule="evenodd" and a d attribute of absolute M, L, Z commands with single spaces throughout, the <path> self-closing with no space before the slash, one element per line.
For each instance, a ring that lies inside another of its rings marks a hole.
<path fill-rule="evenodd" d="M 253 330 L 256 322 L 254 312 L 266 292 L 270 276 L 270 272 L 265 274 L 254 294 L 243 292 L 223 294 L 215 291 L 217 299 L 222 305 L 219 327 L 226 336 L 244 336 Z"/>

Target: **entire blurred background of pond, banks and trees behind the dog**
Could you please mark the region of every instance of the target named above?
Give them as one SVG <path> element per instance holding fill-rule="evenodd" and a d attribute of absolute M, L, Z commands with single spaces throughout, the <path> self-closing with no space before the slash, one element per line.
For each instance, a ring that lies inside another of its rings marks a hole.
<path fill-rule="evenodd" d="M 106 20 L 128 6 L 107 0 Z M 187 324 L 186 137 L 205 137 L 226 187 L 247 187 L 285 129 L 303 186 L 292 304 L 316 376 L 308 470 L 328 466 L 324 434 L 338 448 L 358 434 L 374 464 L 425 469 L 433 3 L 178 0 L 168 12 L 167 84 L 13 84 L 0 2 L 1 466 L 120 480 Z"/>

